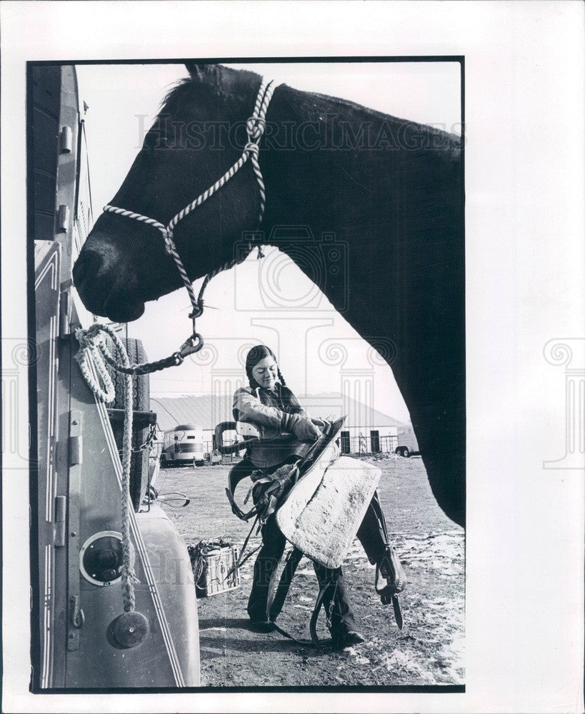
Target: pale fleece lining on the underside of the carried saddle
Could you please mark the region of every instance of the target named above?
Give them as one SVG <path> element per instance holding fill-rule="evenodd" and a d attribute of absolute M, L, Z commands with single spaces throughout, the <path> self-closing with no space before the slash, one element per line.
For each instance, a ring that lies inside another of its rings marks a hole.
<path fill-rule="evenodd" d="M 374 496 L 381 471 L 348 456 L 306 473 L 276 511 L 287 540 L 327 568 L 339 568 Z"/>

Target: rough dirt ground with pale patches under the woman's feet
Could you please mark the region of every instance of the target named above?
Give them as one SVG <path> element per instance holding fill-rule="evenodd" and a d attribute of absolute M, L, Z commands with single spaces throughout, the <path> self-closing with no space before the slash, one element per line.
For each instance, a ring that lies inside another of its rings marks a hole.
<path fill-rule="evenodd" d="M 371 459 L 370 459 L 371 461 Z M 277 632 L 248 629 L 246 603 L 255 555 L 241 568 L 235 590 L 199 600 L 201 684 L 209 687 L 389 686 L 464 683 L 464 531 L 436 505 L 420 458 L 385 458 L 379 494 L 391 541 L 409 580 L 401 595 L 404 629 L 374 591 L 371 566 L 358 540 L 344 565 L 356 621 L 366 642 L 329 648 L 324 615 L 314 650 Z M 224 493 L 229 466 L 161 470 L 159 493 L 179 491 L 185 508 L 164 506 L 188 543 L 223 538 L 242 545 L 250 526 L 232 515 Z M 260 536 L 253 535 L 249 548 Z M 302 560 L 278 623 L 309 638 L 309 618 L 319 591 L 309 560 Z"/>

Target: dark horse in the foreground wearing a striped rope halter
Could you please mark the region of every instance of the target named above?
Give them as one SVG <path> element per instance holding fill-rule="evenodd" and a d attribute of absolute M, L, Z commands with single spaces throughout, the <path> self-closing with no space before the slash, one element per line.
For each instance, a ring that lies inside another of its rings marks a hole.
<path fill-rule="evenodd" d="M 261 78 L 187 65 L 111 203 L 168 223 L 241 156 Z M 232 131 L 233 130 L 233 131 Z M 223 134 L 222 134 L 223 131 Z M 223 137 L 223 138 L 222 138 Z M 238 138 L 239 137 L 239 138 Z M 343 99 L 278 86 L 259 163 L 262 230 L 309 226 L 346 244 L 346 271 L 321 288 L 356 331 L 394 343 L 391 363 L 431 488 L 464 523 L 465 340 L 461 140 Z M 234 256 L 254 231 L 259 188 L 250 161 L 181 221 L 174 240 L 191 279 Z M 279 233 L 279 231 L 276 231 Z M 279 239 L 299 267 L 294 238 Z M 103 213 L 74 266 L 90 311 L 131 321 L 181 286 L 158 229 Z M 314 274 L 309 274 L 314 278 Z"/>

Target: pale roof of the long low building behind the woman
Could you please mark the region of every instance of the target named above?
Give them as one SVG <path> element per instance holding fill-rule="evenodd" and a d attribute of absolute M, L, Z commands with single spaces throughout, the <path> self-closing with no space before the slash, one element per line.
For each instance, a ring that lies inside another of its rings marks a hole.
<path fill-rule="evenodd" d="M 196 423 L 203 429 L 214 429 L 221 421 L 233 421 L 232 401 L 231 394 L 153 397 L 150 408 L 156 412 L 156 421 L 163 431 L 182 423 Z M 344 398 L 340 392 L 299 396 L 299 401 L 311 416 L 338 419 L 347 414 L 347 426 L 401 426 L 404 423 L 351 397 Z"/>

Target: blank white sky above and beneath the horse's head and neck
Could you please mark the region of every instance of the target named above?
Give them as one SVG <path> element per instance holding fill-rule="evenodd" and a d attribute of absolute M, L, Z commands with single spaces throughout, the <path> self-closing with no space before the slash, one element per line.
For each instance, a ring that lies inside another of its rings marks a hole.
<path fill-rule="evenodd" d="M 460 133 L 459 64 L 246 64 L 277 83 L 356 101 L 386 114 Z M 80 65 L 94 218 L 126 177 L 161 99 L 186 76 L 182 64 Z M 114 111 L 112 111 L 114 108 Z M 215 178 L 219 177 L 214 177 Z M 196 196 L 193 196 L 196 198 Z M 267 196 L 270 200 L 270 196 Z M 151 375 L 151 395 L 199 396 L 229 391 L 243 376 L 242 356 L 263 342 L 279 358 L 299 395 L 349 391 L 349 396 L 400 421 L 409 418 L 391 368 L 337 313 L 319 288 L 280 253 L 268 248 L 213 278 L 197 321 L 206 346 L 179 367 Z M 201 281 L 196 281 L 199 288 Z M 150 360 L 167 356 L 189 336 L 184 289 L 147 303 L 128 334 L 141 339 Z M 315 413 L 314 416 L 326 416 Z"/>

